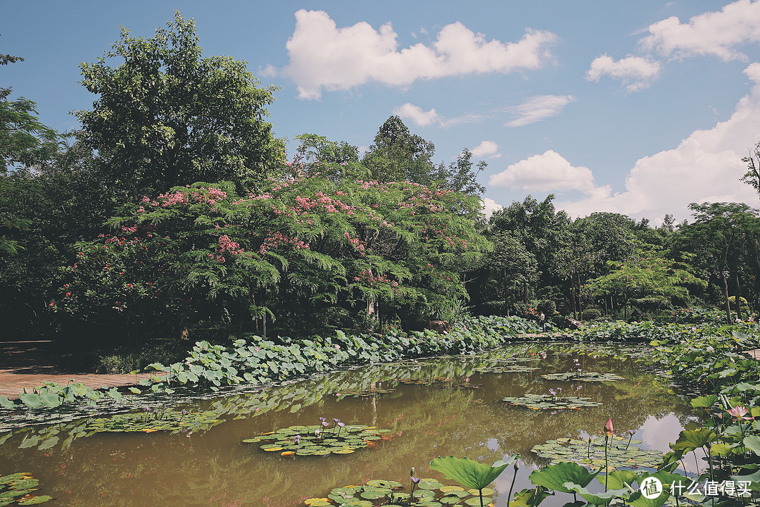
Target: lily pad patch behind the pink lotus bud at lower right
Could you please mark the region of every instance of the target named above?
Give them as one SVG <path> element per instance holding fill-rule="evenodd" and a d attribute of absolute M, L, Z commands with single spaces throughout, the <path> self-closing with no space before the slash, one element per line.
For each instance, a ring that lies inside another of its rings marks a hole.
<path fill-rule="evenodd" d="M 663 453 L 653 449 L 640 449 L 635 444 L 639 440 L 628 438 L 610 438 L 607 447 L 607 458 L 610 470 L 614 468 L 657 467 L 663 461 Z M 627 446 L 627 448 L 626 448 Z M 571 461 L 590 467 L 592 470 L 604 467 L 604 439 L 592 439 L 591 445 L 587 440 L 556 439 L 539 444 L 530 449 L 541 458 L 547 458 L 552 463 Z"/>

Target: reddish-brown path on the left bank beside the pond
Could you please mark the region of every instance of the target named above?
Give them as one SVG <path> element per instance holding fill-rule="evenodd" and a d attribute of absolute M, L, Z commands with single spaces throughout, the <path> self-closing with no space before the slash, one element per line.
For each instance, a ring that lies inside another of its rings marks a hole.
<path fill-rule="evenodd" d="M 112 388 L 134 385 L 136 380 L 147 379 L 147 373 L 137 375 L 100 375 L 67 369 L 55 364 L 50 341 L 0 341 L 0 396 L 18 398 L 24 388 L 31 392 L 43 382 L 65 385 L 82 382 L 90 388 Z"/>

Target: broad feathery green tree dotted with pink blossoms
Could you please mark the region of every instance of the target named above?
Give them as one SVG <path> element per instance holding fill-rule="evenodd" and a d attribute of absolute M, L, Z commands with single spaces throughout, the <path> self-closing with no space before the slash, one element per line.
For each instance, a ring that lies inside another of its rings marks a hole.
<path fill-rule="evenodd" d="M 297 164 L 296 164 L 297 165 Z M 54 308 L 134 330 L 204 318 L 244 322 L 361 302 L 432 314 L 464 298 L 459 274 L 487 242 L 448 213 L 477 199 L 410 182 L 271 180 L 239 196 L 230 182 L 145 196 L 112 219 L 118 234 L 81 243 Z"/>

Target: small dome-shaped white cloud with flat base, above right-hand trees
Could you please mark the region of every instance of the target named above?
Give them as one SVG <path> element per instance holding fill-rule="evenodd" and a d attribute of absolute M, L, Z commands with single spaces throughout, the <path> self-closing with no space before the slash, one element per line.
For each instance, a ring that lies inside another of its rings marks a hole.
<path fill-rule="evenodd" d="M 594 192 L 597 188 L 588 167 L 572 166 L 553 150 L 511 164 L 501 173 L 492 175 L 489 185 L 526 192 Z"/>

